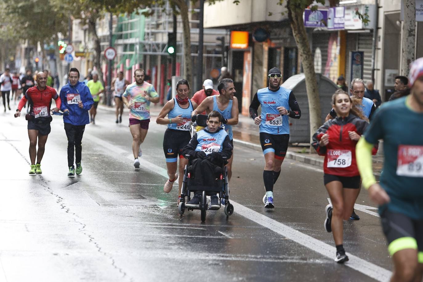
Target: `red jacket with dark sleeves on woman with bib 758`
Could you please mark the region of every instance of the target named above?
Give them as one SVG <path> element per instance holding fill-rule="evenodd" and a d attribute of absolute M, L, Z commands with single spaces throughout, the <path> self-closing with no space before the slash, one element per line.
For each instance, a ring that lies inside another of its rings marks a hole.
<path fill-rule="evenodd" d="M 349 114 L 348 117 L 337 117 L 328 120 L 313 135 L 311 144 L 321 156 L 324 156 L 323 171 L 325 174 L 339 176 L 360 175 L 355 160 L 355 145 L 357 141 L 349 138 L 348 131 L 363 134 L 368 122 Z M 321 137 L 329 134 L 329 144 L 324 147 L 319 145 Z"/>

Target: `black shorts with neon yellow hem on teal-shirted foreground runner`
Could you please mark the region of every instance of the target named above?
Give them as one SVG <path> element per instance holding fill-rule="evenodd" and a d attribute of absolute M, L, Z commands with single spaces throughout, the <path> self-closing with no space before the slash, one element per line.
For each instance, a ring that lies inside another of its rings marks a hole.
<path fill-rule="evenodd" d="M 403 249 L 418 249 L 419 263 L 423 263 L 423 219 L 411 219 L 388 209 L 380 219 L 390 255 Z"/>

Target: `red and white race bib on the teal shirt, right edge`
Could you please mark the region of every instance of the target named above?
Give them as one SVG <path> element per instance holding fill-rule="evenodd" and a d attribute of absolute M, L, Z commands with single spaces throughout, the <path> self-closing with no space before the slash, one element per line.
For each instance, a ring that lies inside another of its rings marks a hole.
<path fill-rule="evenodd" d="M 423 177 L 423 146 L 398 146 L 397 175 Z"/>

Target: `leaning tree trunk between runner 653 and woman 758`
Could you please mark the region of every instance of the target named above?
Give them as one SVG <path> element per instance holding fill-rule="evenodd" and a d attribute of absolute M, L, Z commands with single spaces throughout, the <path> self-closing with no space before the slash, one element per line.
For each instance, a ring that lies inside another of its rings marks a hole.
<path fill-rule="evenodd" d="M 316 73 L 314 71 L 313 54 L 308 42 L 307 33 L 302 19 L 303 9 L 291 4 L 288 0 L 288 17 L 291 22 L 292 34 L 297 43 L 299 56 L 305 75 L 305 87 L 307 90 L 308 110 L 310 114 L 310 143 L 313 134 L 321 126 L 321 109 L 319 89 L 317 86 Z"/>

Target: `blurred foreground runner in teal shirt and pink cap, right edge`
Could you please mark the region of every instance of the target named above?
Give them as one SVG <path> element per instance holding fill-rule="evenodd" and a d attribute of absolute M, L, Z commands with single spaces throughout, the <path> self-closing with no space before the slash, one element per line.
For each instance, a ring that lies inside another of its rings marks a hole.
<path fill-rule="evenodd" d="M 393 282 L 423 277 L 423 58 L 411 64 L 408 83 L 410 95 L 382 104 L 357 144 L 363 186 L 379 205 Z M 370 152 L 379 139 L 385 162 L 377 183 Z"/>

